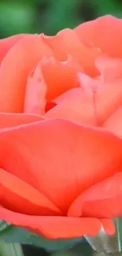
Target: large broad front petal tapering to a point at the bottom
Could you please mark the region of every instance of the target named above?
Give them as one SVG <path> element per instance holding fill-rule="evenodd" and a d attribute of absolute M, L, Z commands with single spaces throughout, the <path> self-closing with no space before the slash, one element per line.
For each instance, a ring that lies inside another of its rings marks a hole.
<path fill-rule="evenodd" d="M 120 138 L 69 121 L 6 129 L 0 147 L 3 168 L 37 187 L 64 213 L 83 190 L 122 169 Z"/>

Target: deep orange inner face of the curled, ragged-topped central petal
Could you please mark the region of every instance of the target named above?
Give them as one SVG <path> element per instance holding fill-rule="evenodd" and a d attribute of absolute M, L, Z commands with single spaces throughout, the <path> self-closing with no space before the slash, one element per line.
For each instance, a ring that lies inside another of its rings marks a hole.
<path fill-rule="evenodd" d="M 61 62 L 55 58 L 49 58 L 46 61 L 42 61 L 40 68 L 47 85 L 47 102 L 57 98 L 65 91 L 79 87 L 77 73 L 82 69 L 80 67 L 75 69 L 74 65 L 70 64 L 68 60 Z"/>

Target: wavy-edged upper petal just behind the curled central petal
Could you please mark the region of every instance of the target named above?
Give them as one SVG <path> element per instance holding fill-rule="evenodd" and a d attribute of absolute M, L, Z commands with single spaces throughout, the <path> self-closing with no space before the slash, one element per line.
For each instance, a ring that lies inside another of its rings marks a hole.
<path fill-rule="evenodd" d="M 54 51 L 54 56 L 59 61 L 65 61 L 67 55 L 70 54 L 90 76 L 98 74 L 94 61 L 101 51 L 84 41 L 81 42 L 72 29 L 65 28 L 54 36 L 43 35 L 43 39 Z"/>

